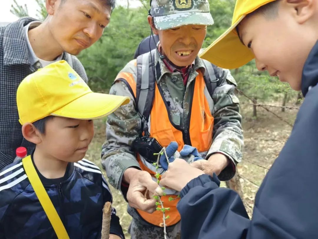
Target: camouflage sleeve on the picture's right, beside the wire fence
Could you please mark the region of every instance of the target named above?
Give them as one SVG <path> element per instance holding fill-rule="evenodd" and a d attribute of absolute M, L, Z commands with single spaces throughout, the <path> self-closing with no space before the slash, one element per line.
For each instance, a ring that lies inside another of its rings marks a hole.
<path fill-rule="evenodd" d="M 242 159 L 243 130 L 242 117 L 239 114 L 239 99 L 234 94 L 237 85 L 229 70 L 217 68 L 221 83 L 214 90 L 212 98 L 214 108 L 213 143 L 207 159 L 214 153 L 222 153 L 233 162 L 218 176 L 226 181 L 235 175 L 235 166 Z"/>

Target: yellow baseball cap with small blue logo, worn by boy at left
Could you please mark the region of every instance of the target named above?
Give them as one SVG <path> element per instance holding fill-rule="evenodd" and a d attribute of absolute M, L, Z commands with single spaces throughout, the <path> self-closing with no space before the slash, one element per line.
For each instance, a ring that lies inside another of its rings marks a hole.
<path fill-rule="evenodd" d="M 92 120 L 114 112 L 129 97 L 94 93 L 66 61 L 51 63 L 25 77 L 17 89 L 19 122 L 49 115 Z"/>

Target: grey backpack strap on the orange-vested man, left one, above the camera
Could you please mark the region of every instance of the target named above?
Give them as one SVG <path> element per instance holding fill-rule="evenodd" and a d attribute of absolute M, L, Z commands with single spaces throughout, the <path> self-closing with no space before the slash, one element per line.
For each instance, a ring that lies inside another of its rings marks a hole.
<path fill-rule="evenodd" d="M 137 57 L 136 107 L 142 119 L 141 130 L 146 136 L 149 136 L 148 120 L 155 98 L 154 59 L 155 51 Z"/>

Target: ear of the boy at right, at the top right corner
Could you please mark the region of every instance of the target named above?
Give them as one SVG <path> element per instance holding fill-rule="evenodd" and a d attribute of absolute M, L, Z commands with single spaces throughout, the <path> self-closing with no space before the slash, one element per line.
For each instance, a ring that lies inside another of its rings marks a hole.
<path fill-rule="evenodd" d="M 287 0 L 287 4 L 294 9 L 294 18 L 299 24 L 303 24 L 310 19 L 317 8 L 316 0 Z"/>

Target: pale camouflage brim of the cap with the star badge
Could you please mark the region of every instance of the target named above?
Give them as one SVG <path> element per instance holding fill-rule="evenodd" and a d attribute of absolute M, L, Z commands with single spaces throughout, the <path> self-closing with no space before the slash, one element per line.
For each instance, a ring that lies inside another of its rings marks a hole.
<path fill-rule="evenodd" d="M 154 17 L 158 30 L 167 30 L 184 25 L 213 25 L 210 12 L 180 12 L 165 16 Z"/>

